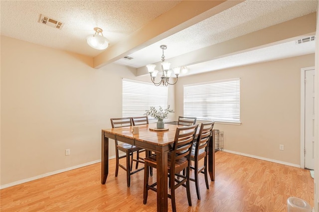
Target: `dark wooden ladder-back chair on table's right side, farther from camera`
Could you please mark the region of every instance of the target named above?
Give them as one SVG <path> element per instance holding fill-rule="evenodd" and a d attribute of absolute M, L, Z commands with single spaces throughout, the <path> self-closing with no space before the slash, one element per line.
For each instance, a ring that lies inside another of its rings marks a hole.
<path fill-rule="evenodd" d="M 190 165 L 190 169 L 195 171 L 194 179 L 190 178 L 189 180 L 195 182 L 197 199 L 200 200 L 200 192 L 199 192 L 199 183 L 198 183 L 198 174 L 202 173 L 205 176 L 206 188 L 209 189 L 208 186 L 208 174 L 207 174 L 207 150 L 210 137 L 212 136 L 212 130 L 214 127 L 214 121 L 201 123 L 199 128 L 199 133 L 197 136 L 196 142 L 193 144 L 193 148 L 190 154 L 190 160 L 194 161 L 194 166 Z M 194 148 L 195 147 L 195 148 Z M 204 165 L 199 167 L 199 161 L 204 160 Z"/>

